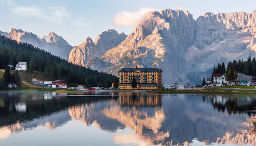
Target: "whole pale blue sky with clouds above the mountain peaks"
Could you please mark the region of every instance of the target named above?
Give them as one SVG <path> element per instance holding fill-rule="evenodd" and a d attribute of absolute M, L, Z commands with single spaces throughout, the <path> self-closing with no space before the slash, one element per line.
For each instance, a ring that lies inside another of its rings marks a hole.
<path fill-rule="evenodd" d="M 22 29 L 38 36 L 55 32 L 72 46 L 115 29 L 129 35 L 149 10 L 188 10 L 196 19 L 205 12 L 230 13 L 256 10 L 256 0 L 0 0 L 0 30 Z"/>

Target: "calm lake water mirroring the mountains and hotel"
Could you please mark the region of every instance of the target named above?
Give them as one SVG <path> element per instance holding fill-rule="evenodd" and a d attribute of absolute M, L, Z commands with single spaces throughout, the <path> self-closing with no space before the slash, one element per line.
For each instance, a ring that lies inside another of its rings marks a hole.
<path fill-rule="evenodd" d="M 0 92 L 0 145 L 255 145 L 256 94 Z"/>

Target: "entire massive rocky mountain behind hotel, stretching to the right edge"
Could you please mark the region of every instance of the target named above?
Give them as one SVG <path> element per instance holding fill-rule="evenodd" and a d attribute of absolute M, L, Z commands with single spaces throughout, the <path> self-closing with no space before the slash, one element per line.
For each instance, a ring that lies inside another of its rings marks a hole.
<path fill-rule="evenodd" d="M 124 41 L 102 57 L 90 53 L 80 57 L 71 51 L 69 59 L 112 74 L 135 66 L 160 68 L 164 84 L 201 84 L 202 77 L 210 76 L 219 62 L 256 56 L 256 11 L 205 13 L 195 20 L 189 12 L 165 9 L 148 12 L 145 17 Z"/>

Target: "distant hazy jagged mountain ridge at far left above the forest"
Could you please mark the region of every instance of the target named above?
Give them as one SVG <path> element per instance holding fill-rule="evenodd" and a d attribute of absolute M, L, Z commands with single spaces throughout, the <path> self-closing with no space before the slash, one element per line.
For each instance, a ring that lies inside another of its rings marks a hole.
<path fill-rule="evenodd" d="M 12 28 L 6 36 L 18 42 L 32 44 L 35 47 L 51 52 L 53 55 L 57 55 L 65 60 L 68 60 L 69 52 L 73 48 L 62 38 L 62 36 L 58 36 L 54 32 L 49 33 L 48 36 L 40 38 L 33 33 Z"/>

